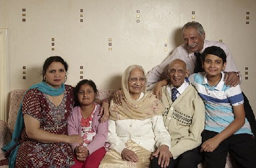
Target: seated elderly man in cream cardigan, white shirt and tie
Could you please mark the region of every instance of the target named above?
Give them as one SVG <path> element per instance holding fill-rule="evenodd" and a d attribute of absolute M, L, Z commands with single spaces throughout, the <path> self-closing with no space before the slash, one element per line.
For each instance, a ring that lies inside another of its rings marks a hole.
<path fill-rule="evenodd" d="M 171 81 L 162 87 L 162 101 L 165 106 L 164 124 L 172 137 L 168 167 L 198 167 L 202 161 L 200 145 L 204 130 L 204 103 L 193 85 L 186 82 L 186 63 L 175 59 L 167 70 Z M 154 153 L 153 156 L 157 156 Z M 155 157 L 151 167 L 160 167 Z"/>

